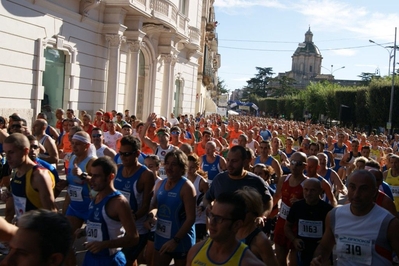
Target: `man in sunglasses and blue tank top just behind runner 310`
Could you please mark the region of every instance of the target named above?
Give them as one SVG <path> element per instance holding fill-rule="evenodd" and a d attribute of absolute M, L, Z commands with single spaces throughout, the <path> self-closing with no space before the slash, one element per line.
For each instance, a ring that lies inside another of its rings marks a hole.
<path fill-rule="evenodd" d="M 122 165 L 118 167 L 114 179 L 115 189 L 119 190 L 130 204 L 140 236 L 136 246 L 122 250 L 128 261 L 127 265 L 133 264 L 147 243 L 149 230 L 144 226 L 144 222 L 150 209 L 155 184 L 153 172 L 138 162 L 140 147 L 140 140 L 131 135 L 121 139 L 119 155 Z"/>

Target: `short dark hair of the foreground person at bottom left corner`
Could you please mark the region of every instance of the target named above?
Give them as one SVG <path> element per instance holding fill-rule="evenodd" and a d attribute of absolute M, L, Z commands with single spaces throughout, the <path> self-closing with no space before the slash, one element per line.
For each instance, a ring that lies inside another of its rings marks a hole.
<path fill-rule="evenodd" d="M 61 253 L 65 258 L 71 248 L 72 228 L 68 219 L 60 213 L 32 210 L 20 217 L 18 227 L 37 233 L 42 260 L 55 253 Z"/>

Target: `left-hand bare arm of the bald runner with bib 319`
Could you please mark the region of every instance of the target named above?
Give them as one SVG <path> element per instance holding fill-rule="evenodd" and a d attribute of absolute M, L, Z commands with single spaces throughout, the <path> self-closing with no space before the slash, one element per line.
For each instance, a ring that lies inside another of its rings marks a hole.
<path fill-rule="evenodd" d="M 330 215 L 331 212 L 327 214 L 326 230 L 324 231 L 323 237 L 320 240 L 319 245 L 313 253 L 314 258 L 310 263 L 310 265 L 312 266 L 323 265 L 323 263 L 325 263 L 329 259 L 331 251 L 335 245 L 335 237 L 330 226 Z"/>

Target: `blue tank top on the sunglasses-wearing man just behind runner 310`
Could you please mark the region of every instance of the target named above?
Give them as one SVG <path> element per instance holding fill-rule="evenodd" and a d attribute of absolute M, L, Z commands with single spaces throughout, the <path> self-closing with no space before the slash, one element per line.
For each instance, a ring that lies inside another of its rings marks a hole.
<path fill-rule="evenodd" d="M 139 203 L 137 197 L 139 195 L 136 194 L 137 189 L 137 182 L 139 181 L 141 174 L 147 169 L 144 165 L 142 165 L 132 176 L 129 177 L 123 177 L 122 176 L 122 171 L 123 171 L 123 165 L 119 166 L 118 173 L 116 174 L 116 177 L 114 179 L 114 187 L 115 189 L 119 190 L 123 196 L 127 199 L 130 205 L 130 209 L 132 209 L 134 212 L 137 212 Z"/>

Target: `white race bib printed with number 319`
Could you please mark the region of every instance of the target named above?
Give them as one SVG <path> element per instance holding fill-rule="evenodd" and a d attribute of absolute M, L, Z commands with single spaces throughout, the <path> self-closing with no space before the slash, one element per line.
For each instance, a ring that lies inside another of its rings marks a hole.
<path fill-rule="evenodd" d="M 370 239 L 338 236 L 336 246 L 338 260 L 342 259 L 355 263 L 371 265 L 372 245 L 372 240 Z"/>

